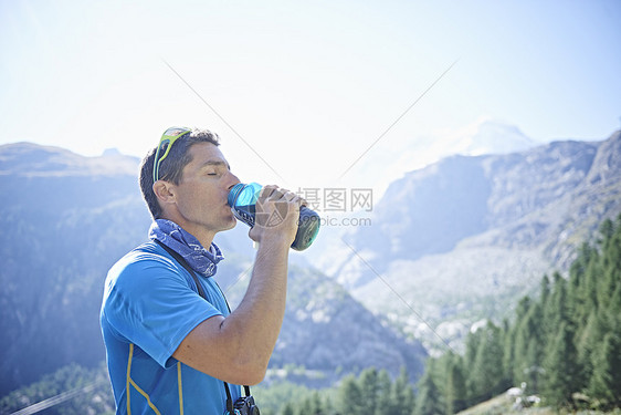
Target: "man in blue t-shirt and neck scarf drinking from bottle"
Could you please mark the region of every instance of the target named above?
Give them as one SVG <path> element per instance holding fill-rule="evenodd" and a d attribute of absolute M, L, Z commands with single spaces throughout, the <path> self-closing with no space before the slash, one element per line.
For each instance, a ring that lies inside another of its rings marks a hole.
<path fill-rule="evenodd" d="M 239 179 L 218 145 L 208 131 L 170 128 L 143 160 L 151 240 L 109 270 L 101 311 L 117 414 L 220 415 L 227 388 L 234 402 L 236 385 L 254 385 L 265 375 L 283 321 L 288 250 L 303 200 L 276 186 L 263 188 L 257 211 L 269 217 L 276 204 L 286 204 L 288 214 L 276 226 L 250 230 L 259 242 L 254 268 L 242 302 L 230 312 L 211 278 L 222 259 L 213 237 L 235 226 L 227 197 Z"/>

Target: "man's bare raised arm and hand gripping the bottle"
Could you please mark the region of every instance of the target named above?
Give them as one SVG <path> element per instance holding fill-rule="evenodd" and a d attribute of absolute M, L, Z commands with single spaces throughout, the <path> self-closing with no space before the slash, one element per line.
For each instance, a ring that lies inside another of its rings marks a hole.
<path fill-rule="evenodd" d="M 261 197 L 264 203 L 257 209 L 270 214 L 276 203 L 286 203 L 287 215 L 275 227 L 257 224 L 251 229 L 250 237 L 260 245 L 242 302 L 229 317 L 212 317 L 197 325 L 172 354 L 196 370 L 233 384 L 254 385 L 265 376 L 283 323 L 288 251 L 299 217 L 301 199 L 296 195 L 266 186 Z"/>

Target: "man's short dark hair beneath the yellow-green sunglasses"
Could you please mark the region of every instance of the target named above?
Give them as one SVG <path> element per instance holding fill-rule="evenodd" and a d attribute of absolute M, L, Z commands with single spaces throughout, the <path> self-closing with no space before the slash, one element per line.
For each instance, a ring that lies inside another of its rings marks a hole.
<path fill-rule="evenodd" d="M 189 153 L 190 147 L 197 143 L 211 143 L 215 146 L 220 145 L 220 138 L 218 134 L 210 132 L 209 129 L 192 129 L 190 134 L 185 135 L 175 143 L 168 153 L 168 156 L 161 160 L 159 165 L 159 179 L 171 181 L 178 185 L 181 181 L 181 175 L 183 173 L 183 167 L 192 160 Z M 164 144 L 161 151 L 166 151 L 168 144 Z M 157 196 L 154 193 L 154 162 L 157 147 L 151 148 L 140 165 L 140 190 L 143 190 L 143 197 L 147 203 L 147 207 L 151 212 L 154 219 L 158 219 L 161 215 L 161 206 L 157 200 Z"/>

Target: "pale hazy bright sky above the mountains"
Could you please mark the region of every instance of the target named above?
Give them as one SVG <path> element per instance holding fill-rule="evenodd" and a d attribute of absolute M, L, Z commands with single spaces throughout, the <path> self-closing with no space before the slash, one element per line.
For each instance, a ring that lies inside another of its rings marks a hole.
<path fill-rule="evenodd" d="M 244 181 L 375 186 L 482 120 L 608 137 L 620 21 L 618 0 L 0 0 L 0 144 L 143 156 L 208 127 Z"/>

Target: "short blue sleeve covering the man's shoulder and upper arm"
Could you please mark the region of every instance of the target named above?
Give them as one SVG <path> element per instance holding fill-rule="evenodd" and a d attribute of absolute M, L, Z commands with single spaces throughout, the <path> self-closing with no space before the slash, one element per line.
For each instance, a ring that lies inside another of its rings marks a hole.
<path fill-rule="evenodd" d="M 108 272 L 103 314 L 115 335 L 169 367 L 190 331 L 222 314 L 192 287 L 188 272 L 167 257 L 135 252 Z"/>

